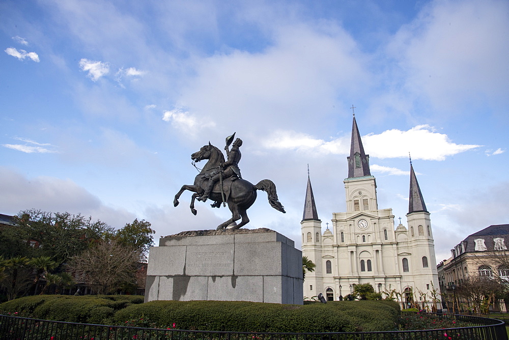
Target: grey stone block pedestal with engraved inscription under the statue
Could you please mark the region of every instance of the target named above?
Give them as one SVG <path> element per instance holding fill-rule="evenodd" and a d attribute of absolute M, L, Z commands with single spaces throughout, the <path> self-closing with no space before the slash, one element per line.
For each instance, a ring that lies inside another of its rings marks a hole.
<path fill-rule="evenodd" d="M 150 248 L 145 301 L 302 304 L 302 251 L 269 230 L 183 232 Z"/>

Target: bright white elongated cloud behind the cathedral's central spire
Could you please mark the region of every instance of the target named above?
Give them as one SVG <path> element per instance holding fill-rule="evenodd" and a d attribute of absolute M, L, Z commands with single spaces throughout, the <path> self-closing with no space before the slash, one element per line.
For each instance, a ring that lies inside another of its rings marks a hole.
<path fill-rule="evenodd" d="M 372 157 L 401 158 L 410 152 L 414 159 L 444 160 L 461 152 L 480 147 L 479 145 L 455 144 L 446 134 L 435 132 L 428 125 L 417 125 L 408 130 L 386 130 L 380 134 L 362 137 L 365 150 Z M 324 154 L 343 154 L 350 152 L 350 135 L 331 141 L 313 138 L 305 133 L 294 131 L 275 131 L 262 145 L 267 149 L 312 151 Z M 385 171 L 382 167 L 380 171 Z M 405 173 L 408 175 L 408 173 Z"/>

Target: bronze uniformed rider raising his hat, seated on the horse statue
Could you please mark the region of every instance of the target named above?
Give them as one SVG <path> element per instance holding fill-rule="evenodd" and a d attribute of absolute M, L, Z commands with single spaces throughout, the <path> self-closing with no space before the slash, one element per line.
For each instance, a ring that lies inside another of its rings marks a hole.
<path fill-rule="evenodd" d="M 231 141 L 230 141 L 231 143 Z M 219 170 L 214 170 L 208 174 L 205 174 L 202 176 L 202 178 L 209 178 L 209 182 L 207 183 L 207 188 L 205 188 L 205 191 L 203 195 L 198 199 L 199 201 L 205 202 L 209 198 L 210 192 L 212 191 L 212 188 L 214 188 L 214 185 L 221 179 L 227 179 L 232 178 L 242 178 L 240 175 L 240 169 L 239 169 L 239 162 L 240 158 L 242 157 L 242 154 L 240 153 L 239 148 L 242 146 L 242 139 L 237 138 L 233 142 L 232 150 L 230 151 L 227 146 L 224 147 L 224 150 L 226 150 L 228 160 L 221 164 L 221 168 Z"/>

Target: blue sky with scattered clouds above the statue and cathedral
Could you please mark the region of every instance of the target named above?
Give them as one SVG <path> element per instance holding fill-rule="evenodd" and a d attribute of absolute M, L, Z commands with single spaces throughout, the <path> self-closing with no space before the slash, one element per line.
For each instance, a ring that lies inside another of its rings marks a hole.
<path fill-rule="evenodd" d="M 146 219 L 156 238 L 227 209 L 173 197 L 190 154 L 244 140 L 274 181 L 248 228 L 300 245 L 307 164 L 318 214 L 345 211 L 352 104 L 379 208 L 408 212 L 412 155 L 437 261 L 509 223 L 507 1 L 2 1 L 0 213 Z"/>

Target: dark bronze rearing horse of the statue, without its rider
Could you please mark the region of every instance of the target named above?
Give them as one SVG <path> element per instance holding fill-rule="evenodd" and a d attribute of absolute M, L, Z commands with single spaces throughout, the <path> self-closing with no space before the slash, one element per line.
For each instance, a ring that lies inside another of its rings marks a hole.
<path fill-rule="evenodd" d="M 185 190 L 194 192 L 191 197 L 191 212 L 196 215 L 196 209 L 194 209 L 194 200 L 200 197 L 205 188 L 207 187 L 208 179 L 204 175 L 209 174 L 214 170 L 221 170 L 221 164 L 224 163 L 224 156 L 222 152 L 214 147 L 213 145 L 205 145 L 200 151 L 197 151 L 191 155 L 193 162 L 199 162 L 203 159 L 208 159 L 207 163 L 201 170 L 200 174 L 194 178 L 194 185 L 183 185 L 180 191 L 175 195 L 173 201 L 174 206 L 179 205 L 179 197 Z M 223 192 L 221 192 L 220 185 L 223 186 Z M 271 180 L 261 180 L 257 185 L 240 179 L 240 178 L 229 178 L 224 179 L 221 183 L 216 183 L 214 190 L 210 193 L 210 199 L 216 201 L 212 204 L 213 207 L 219 207 L 220 203 L 224 202 L 228 204 L 228 208 L 232 212 L 232 218 L 225 221 L 217 226 L 217 229 L 227 228 L 231 224 L 235 224 L 237 220 L 242 218 L 241 222 L 234 225 L 232 229 L 239 229 L 241 226 L 249 222 L 246 211 L 252 206 L 257 197 L 257 190 L 264 190 L 267 192 L 269 204 L 272 208 L 285 213 L 285 208 L 279 203 L 277 199 L 276 186 Z"/>

